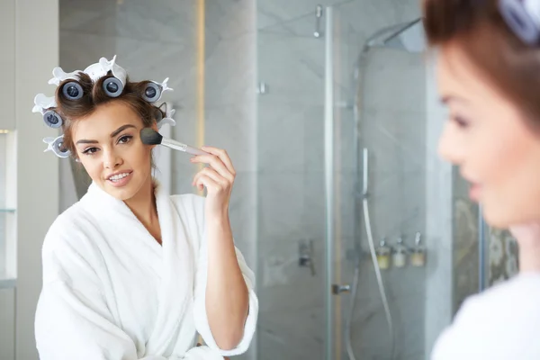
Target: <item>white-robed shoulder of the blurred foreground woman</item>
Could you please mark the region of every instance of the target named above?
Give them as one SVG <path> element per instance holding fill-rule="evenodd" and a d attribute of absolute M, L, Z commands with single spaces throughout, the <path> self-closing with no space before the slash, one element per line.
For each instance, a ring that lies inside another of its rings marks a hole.
<path fill-rule="evenodd" d="M 540 274 L 518 275 L 468 298 L 432 359 L 538 359 L 539 332 Z"/>

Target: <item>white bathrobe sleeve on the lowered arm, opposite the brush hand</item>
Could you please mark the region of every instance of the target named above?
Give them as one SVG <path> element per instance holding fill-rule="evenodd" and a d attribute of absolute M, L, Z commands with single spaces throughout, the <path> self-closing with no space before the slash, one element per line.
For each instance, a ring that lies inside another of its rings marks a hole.
<path fill-rule="evenodd" d="M 94 271 L 99 253 L 84 234 L 62 222 L 49 229 L 43 246 L 43 288 L 35 319 L 40 360 L 180 359 L 138 354 L 107 306 L 113 293 Z M 208 353 L 209 348 L 192 349 L 182 359 L 221 359 Z"/>

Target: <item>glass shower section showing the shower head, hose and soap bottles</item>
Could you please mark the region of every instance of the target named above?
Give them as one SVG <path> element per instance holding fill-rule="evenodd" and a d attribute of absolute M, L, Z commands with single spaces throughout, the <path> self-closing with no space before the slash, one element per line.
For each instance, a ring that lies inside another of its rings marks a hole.
<path fill-rule="evenodd" d="M 452 172 L 433 146 L 419 8 L 360 3 L 326 13 L 326 358 L 428 358 L 452 317 Z"/>

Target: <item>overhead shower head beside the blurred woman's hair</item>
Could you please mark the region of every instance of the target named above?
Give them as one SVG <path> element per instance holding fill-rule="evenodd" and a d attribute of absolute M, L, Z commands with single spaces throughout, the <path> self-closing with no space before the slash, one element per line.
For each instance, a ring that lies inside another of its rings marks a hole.
<path fill-rule="evenodd" d="M 426 49 L 422 19 L 399 23 L 377 31 L 366 41 L 366 46 L 421 52 Z"/>

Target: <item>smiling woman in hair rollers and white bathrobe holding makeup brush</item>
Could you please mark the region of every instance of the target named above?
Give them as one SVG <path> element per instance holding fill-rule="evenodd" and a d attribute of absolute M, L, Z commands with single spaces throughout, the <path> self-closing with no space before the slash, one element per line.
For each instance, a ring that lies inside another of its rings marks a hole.
<path fill-rule="evenodd" d="M 153 147 L 139 131 L 166 121 L 155 104 L 166 81 L 132 83 L 115 58 L 64 73 L 34 111 L 63 130 L 58 156 L 93 184 L 58 216 L 43 244 L 36 314 L 41 360 L 222 359 L 247 350 L 256 328 L 254 275 L 234 247 L 229 196 L 235 170 L 218 148 L 193 185 L 206 199 L 168 195 L 151 176 Z M 170 114 L 170 112 L 169 112 Z M 171 121 L 171 119 L 168 119 Z M 198 332 L 207 347 L 193 347 Z"/>

